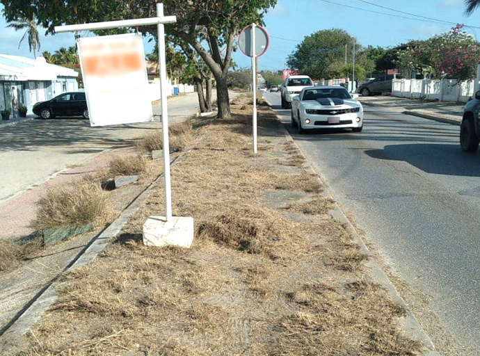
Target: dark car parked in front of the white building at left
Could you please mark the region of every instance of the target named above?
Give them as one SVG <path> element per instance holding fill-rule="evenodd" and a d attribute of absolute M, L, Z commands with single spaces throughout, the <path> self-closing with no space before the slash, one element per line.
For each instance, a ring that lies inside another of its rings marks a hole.
<path fill-rule="evenodd" d="M 64 92 L 61 95 L 33 105 L 35 115 L 43 119 L 55 116 L 83 116 L 88 119 L 88 106 L 85 92 Z"/>

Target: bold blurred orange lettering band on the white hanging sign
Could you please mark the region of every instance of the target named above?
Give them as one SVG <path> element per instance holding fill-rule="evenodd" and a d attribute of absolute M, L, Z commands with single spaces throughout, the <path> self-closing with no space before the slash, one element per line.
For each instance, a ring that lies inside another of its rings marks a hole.
<path fill-rule="evenodd" d="M 86 75 L 116 76 L 141 70 L 142 60 L 138 52 L 126 52 L 87 56 L 81 59 L 81 65 Z"/>

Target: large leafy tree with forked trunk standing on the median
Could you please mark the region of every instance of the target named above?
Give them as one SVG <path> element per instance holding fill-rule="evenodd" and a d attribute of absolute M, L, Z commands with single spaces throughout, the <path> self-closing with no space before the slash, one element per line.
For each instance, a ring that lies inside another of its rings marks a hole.
<path fill-rule="evenodd" d="M 35 15 L 50 33 L 61 24 L 154 17 L 157 13 L 157 0 L 0 1 L 7 21 Z M 277 0 L 163 1 L 165 15 L 177 17 L 177 23 L 167 25 L 166 32 L 195 49 L 216 79 L 218 118 L 230 116 L 227 74 L 239 30 L 253 22 L 263 24 L 264 13 L 276 3 Z M 145 31 L 156 35 L 157 26 Z"/>

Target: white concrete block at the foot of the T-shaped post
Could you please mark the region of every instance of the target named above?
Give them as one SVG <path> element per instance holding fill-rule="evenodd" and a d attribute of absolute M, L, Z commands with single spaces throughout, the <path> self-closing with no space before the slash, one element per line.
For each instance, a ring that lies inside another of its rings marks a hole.
<path fill-rule="evenodd" d="M 146 246 L 179 246 L 190 248 L 193 242 L 193 218 L 173 216 L 167 223 L 163 216 L 150 216 L 143 224 Z"/>

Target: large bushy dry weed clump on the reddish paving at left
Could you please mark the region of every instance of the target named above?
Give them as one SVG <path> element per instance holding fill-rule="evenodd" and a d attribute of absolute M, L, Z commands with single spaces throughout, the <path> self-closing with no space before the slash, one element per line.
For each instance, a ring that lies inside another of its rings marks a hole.
<path fill-rule="evenodd" d="M 49 191 L 38 202 L 35 229 L 103 223 L 109 214 L 108 193 L 98 184 L 74 181 Z"/>

